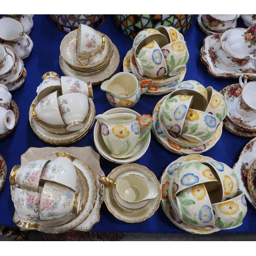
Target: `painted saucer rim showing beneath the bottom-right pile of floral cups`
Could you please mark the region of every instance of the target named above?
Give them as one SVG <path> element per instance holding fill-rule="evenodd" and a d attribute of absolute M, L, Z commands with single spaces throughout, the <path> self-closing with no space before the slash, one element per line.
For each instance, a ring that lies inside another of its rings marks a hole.
<path fill-rule="evenodd" d="M 161 206 L 163 208 L 164 213 L 169 218 L 170 221 L 173 222 L 177 227 L 181 228 L 184 231 L 187 231 L 189 233 L 193 234 L 210 234 L 219 231 L 220 229 L 215 228 L 209 228 L 208 230 L 202 230 L 197 229 L 194 227 L 191 227 L 190 225 L 182 222 L 176 215 L 175 210 L 170 205 L 170 201 L 168 199 L 168 188 L 169 188 L 169 182 L 172 178 L 173 174 L 175 173 L 175 168 L 172 167 L 175 165 L 175 163 L 184 163 L 186 161 L 190 160 L 208 160 L 208 161 L 214 161 L 214 159 L 202 155 L 188 155 L 178 158 L 177 160 L 170 163 L 163 171 L 162 177 L 160 178 L 160 186 L 162 191 L 162 198 L 161 198 Z M 173 168 L 173 170 L 172 170 Z"/>

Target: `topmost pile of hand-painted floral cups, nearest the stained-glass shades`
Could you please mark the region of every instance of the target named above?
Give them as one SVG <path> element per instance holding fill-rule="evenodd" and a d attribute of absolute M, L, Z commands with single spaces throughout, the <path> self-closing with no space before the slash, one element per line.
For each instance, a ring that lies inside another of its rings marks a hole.
<path fill-rule="evenodd" d="M 186 41 L 173 27 L 158 26 L 139 32 L 131 51 L 130 59 L 125 61 L 130 62 L 132 73 L 139 81 L 152 79 L 154 87 L 170 88 L 165 93 L 178 83 L 189 59 Z"/>

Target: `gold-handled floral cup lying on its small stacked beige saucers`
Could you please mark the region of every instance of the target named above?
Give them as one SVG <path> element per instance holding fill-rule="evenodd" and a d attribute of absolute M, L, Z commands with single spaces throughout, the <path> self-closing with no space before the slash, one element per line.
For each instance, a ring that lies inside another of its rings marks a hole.
<path fill-rule="evenodd" d="M 114 45 L 108 36 L 84 24 L 68 33 L 60 44 L 60 56 L 67 66 L 85 76 L 102 72 L 109 65 L 113 52 Z"/>

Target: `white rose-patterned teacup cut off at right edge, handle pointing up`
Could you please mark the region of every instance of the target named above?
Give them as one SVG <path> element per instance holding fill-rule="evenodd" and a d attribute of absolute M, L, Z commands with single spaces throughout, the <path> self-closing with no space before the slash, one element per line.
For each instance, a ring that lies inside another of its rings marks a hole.
<path fill-rule="evenodd" d="M 242 78 L 245 77 L 245 81 Z M 240 85 L 242 87 L 242 93 L 237 100 L 237 111 L 240 115 L 248 118 L 255 118 L 256 115 L 256 82 L 247 82 L 247 77 L 241 75 L 239 78 Z"/>

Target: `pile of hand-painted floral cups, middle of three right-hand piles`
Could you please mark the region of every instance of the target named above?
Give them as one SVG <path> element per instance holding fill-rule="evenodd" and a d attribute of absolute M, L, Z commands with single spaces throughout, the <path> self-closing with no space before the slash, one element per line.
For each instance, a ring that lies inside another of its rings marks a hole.
<path fill-rule="evenodd" d="M 183 81 L 163 97 L 158 116 L 153 113 L 154 123 L 160 126 L 155 135 L 181 147 L 205 145 L 216 136 L 227 111 L 224 97 L 214 88 L 195 80 Z"/>

